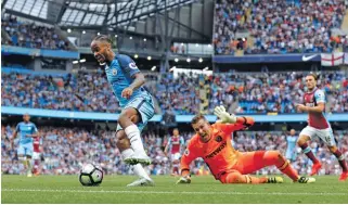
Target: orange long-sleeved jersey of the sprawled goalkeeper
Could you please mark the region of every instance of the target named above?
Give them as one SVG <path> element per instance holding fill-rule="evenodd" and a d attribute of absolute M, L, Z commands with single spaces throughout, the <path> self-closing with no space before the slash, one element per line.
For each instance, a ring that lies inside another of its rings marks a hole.
<path fill-rule="evenodd" d="M 202 157 L 215 178 L 219 179 L 222 174 L 232 169 L 241 155 L 232 146 L 231 133 L 244 128 L 244 124 L 214 124 L 208 142 L 202 142 L 198 134 L 193 136 L 181 157 L 181 171 L 189 171 L 191 162 Z"/>

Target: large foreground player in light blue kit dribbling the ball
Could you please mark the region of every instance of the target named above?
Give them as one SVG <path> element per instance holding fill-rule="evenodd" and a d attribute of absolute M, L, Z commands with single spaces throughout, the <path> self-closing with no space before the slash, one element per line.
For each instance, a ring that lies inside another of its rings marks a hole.
<path fill-rule="evenodd" d="M 116 128 L 117 148 L 125 163 L 133 165 L 139 179 L 128 187 L 154 185 L 142 165 L 150 165 L 140 133 L 154 116 L 152 95 L 143 88 L 145 77 L 128 55 L 115 54 L 107 36 L 99 35 L 91 42 L 96 61 L 105 65 L 105 73 L 123 112 Z"/>

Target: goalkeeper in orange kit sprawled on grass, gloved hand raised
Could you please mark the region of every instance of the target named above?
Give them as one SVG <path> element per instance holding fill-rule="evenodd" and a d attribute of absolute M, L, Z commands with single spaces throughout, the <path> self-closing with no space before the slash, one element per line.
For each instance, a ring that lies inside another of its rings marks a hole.
<path fill-rule="evenodd" d="M 189 165 L 202 157 L 209 166 L 215 179 L 222 183 L 282 183 L 281 177 L 253 177 L 252 174 L 268 166 L 276 166 L 279 170 L 294 182 L 310 183 L 314 178 L 298 176 L 279 151 L 239 152 L 231 144 L 231 133 L 254 125 L 253 117 L 236 117 L 217 106 L 214 114 L 220 119 L 210 125 L 198 114 L 191 124 L 196 134 L 190 140 L 181 158 L 181 178 L 177 183 L 191 183 Z"/>

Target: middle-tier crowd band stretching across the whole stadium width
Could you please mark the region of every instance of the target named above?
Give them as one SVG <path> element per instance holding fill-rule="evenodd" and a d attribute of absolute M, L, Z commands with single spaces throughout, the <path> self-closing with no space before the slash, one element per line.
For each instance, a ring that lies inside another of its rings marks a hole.
<path fill-rule="evenodd" d="M 296 113 L 302 103 L 306 73 L 215 73 L 201 76 L 208 86 L 208 113 L 223 103 L 235 113 Z M 28 74 L 1 74 L 1 104 L 4 106 L 119 113 L 117 100 L 104 73 L 79 73 L 50 77 Z M 146 75 L 147 90 L 163 112 L 198 112 L 199 76 L 179 74 Z M 318 85 L 327 94 L 326 112 L 348 112 L 348 79 L 344 73 L 322 73 Z"/>

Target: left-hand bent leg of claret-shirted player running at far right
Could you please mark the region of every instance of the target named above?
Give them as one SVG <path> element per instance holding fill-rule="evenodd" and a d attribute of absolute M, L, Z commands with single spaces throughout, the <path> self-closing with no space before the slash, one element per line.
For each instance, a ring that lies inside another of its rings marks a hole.
<path fill-rule="evenodd" d="M 318 158 L 312 153 L 310 146 L 308 145 L 308 141 L 311 140 L 314 136 L 317 136 L 317 130 L 312 127 L 307 126 L 302 131 L 299 133 L 299 138 L 297 140 L 297 144 L 299 148 L 302 149 L 302 152 L 308 156 L 309 159 L 312 161 L 312 171 L 311 176 L 315 175 L 319 169 L 321 168 L 321 163 L 318 161 Z"/>

